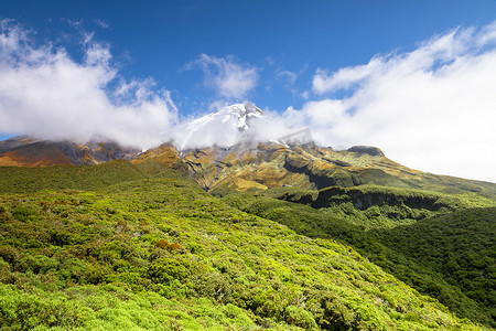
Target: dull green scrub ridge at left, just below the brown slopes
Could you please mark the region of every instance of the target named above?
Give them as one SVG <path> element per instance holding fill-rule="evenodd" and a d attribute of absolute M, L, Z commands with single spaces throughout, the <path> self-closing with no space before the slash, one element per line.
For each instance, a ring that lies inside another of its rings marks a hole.
<path fill-rule="evenodd" d="M 46 189 L 100 190 L 140 179 L 144 179 L 144 174 L 126 160 L 98 166 L 0 167 L 0 194 L 34 193 Z"/>

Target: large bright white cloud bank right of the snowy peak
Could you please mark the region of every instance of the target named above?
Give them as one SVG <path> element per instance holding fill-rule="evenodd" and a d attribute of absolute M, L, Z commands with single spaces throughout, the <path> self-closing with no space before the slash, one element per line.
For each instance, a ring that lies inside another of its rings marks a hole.
<path fill-rule="evenodd" d="M 395 161 L 434 173 L 496 182 L 496 23 L 438 35 L 412 52 L 375 56 L 327 74 L 319 95 L 348 89 L 288 109 L 334 147 L 373 145 Z"/>

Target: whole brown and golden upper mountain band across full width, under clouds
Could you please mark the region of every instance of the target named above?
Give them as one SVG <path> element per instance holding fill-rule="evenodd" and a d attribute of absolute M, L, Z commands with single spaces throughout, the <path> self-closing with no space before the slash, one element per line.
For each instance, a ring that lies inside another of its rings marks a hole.
<path fill-rule="evenodd" d="M 211 115 L 202 119 L 203 126 L 211 121 L 220 121 L 222 117 Z M 262 120 L 258 117 L 238 118 L 236 114 L 229 114 L 229 118 L 235 127 L 239 125 L 242 128 L 250 122 L 249 119 Z M 193 130 L 194 135 L 201 135 L 206 129 L 203 126 L 196 128 L 198 132 Z M 234 129 L 234 132 L 240 134 L 238 129 Z M 0 141 L 0 166 L 44 168 L 61 164 L 101 164 L 125 159 L 134 164 L 153 163 L 159 168 L 164 166 L 187 170 L 202 188 L 211 192 L 257 192 L 287 185 L 316 192 L 334 185 L 351 188 L 370 184 L 453 194 L 476 193 L 496 199 L 494 183 L 417 171 L 388 159 L 375 147 L 356 146 L 337 151 L 331 147 L 314 145 L 310 132 L 306 131 L 279 140 L 265 143 L 242 140 L 230 147 L 213 146 L 198 149 L 181 149 L 173 143 L 164 143 L 140 151 L 115 142 L 83 145 L 15 137 Z"/>

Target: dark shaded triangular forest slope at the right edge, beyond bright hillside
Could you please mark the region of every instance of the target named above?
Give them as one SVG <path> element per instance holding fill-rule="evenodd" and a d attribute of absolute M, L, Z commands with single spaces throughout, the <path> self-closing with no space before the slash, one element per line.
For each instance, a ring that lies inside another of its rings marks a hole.
<path fill-rule="evenodd" d="M 496 327 L 496 207 L 423 220 L 413 226 L 379 232 L 378 237 L 387 247 L 460 287 Z"/>

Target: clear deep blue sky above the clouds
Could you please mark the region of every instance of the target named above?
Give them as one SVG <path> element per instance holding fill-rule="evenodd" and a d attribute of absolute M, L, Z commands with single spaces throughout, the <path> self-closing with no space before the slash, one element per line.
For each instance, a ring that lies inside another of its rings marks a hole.
<path fill-rule="evenodd" d="M 75 58 L 82 55 L 83 31 L 94 32 L 109 43 L 120 74 L 152 77 L 185 114 L 205 110 L 216 96 L 202 83 L 201 70 L 184 67 L 201 54 L 234 55 L 257 67 L 258 84 L 246 97 L 282 111 L 302 105 L 317 68 L 364 64 L 449 29 L 487 24 L 496 18 L 496 2 L 19 0 L 2 1 L 0 15 L 36 31 L 40 42 L 71 50 Z M 280 74 L 285 71 L 298 75 L 295 86 Z"/>

